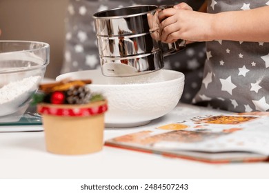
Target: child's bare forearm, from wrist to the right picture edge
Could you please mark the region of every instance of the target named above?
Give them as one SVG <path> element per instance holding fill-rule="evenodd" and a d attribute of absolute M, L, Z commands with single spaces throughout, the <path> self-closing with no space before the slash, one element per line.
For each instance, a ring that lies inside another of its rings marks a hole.
<path fill-rule="evenodd" d="M 269 6 L 212 16 L 211 39 L 269 42 Z"/>

